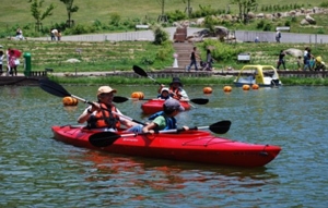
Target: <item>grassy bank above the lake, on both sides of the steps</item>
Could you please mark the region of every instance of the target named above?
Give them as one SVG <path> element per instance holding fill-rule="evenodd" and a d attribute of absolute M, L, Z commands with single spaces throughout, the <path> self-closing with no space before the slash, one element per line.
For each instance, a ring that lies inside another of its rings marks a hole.
<path fill-rule="evenodd" d="M 54 69 L 55 72 L 74 73 L 77 72 L 110 72 L 131 71 L 132 65 L 140 65 L 147 70 L 163 70 L 173 65 L 174 49 L 171 42 L 162 46 L 153 45 L 149 41 L 121 41 L 121 42 L 52 42 L 52 41 L 13 41 L 0 40 L 0 45 L 5 50 L 9 47 L 17 48 L 32 56 L 32 70 L 44 71 L 46 68 Z M 327 62 L 327 44 L 271 44 L 271 42 L 241 42 L 222 44 L 220 41 L 199 42 L 202 60 L 206 59 L 206 48 L 214 46 L 213 56 L 215 70 L 233 68 L 242 69 L 244 63 L 237 62 L 237 54 L 249 53 L 250 64 L 269 64 L 276 66 L 280 50 L 290 48 L 304 50 L 312 48 L 314 56 L 321 56 Z M 81 51 L 81 52 L 79 52 Z M 219 60 L 221 58 L 224 59 Z M 71 63 L 68 60 L 77 59 L 79 62 Z M 286 68 L 297 70 L 296 58 L 285 57 Z M 20 66 L 19 71 L 23 71 Z"/>

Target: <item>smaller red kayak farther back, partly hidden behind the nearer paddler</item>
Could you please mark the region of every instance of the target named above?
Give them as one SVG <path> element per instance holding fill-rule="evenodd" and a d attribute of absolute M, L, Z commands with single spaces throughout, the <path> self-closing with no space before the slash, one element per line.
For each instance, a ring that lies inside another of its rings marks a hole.
<path fill-rule="evenodd" d="M 151 99 L 141 105 L 141 109 L 145 114 L 153 114 L 163 110 L 163 103 L 165 100 L 163 99 Z M 188 101 L 179 101 L 181 107 L 185 110 L 190 110 L 191 106 Z"/>

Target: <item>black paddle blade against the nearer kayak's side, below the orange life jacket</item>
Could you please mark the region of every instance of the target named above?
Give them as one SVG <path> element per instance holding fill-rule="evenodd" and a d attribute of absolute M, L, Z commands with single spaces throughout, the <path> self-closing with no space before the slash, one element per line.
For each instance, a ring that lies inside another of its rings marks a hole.
<path fill-rule="evenodd" d="M 89 142 L 95 147 L 108 147 L 120 137 L 114 132 L 98 132 L 89 137 Z"/>

